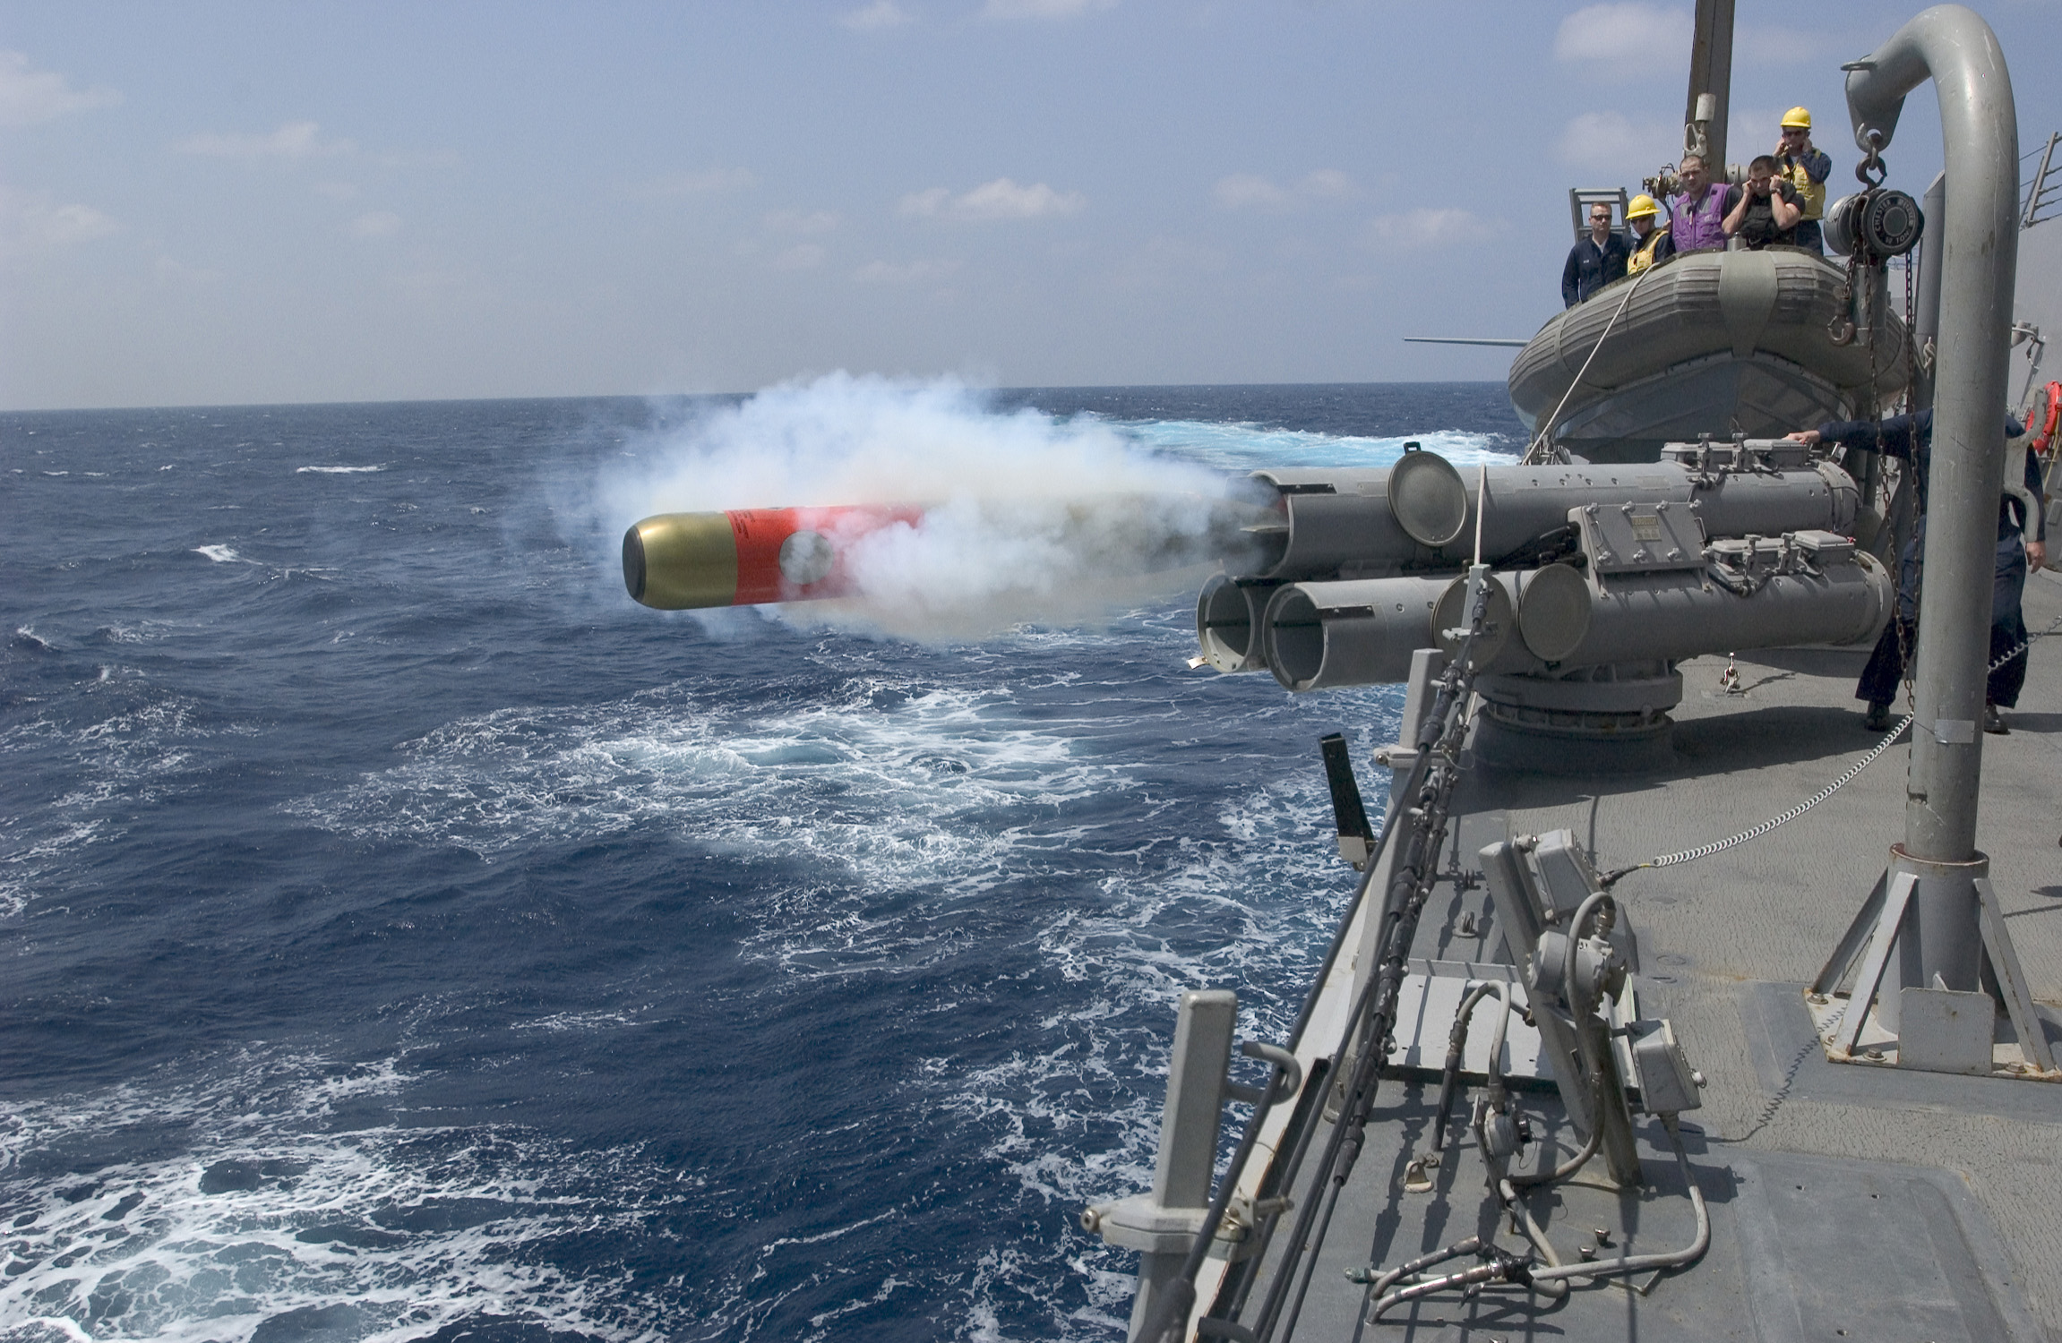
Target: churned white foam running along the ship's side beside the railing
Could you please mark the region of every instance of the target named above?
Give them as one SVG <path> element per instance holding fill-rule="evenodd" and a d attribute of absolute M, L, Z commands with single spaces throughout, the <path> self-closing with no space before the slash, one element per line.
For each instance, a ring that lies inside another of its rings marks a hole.
<path fill-rule="evenodd" d="M 1324 807 L 1316 777 L 1227 805 L 1217 820 L 1229 842 L 1198 845 L 1153 882 L 1111 882 L 1107 904 L 1037 931 L 1039 962 L 1076 989 L 1070 1007 L 1039 1022 L 1037 1048 L 973 1071 L 928 1061 L 934 1104 L 1017 1180 L 1019 1213 L 1072 1224 L 1091 1203 L 1151 1189 L 1184 989 L 1239 987 L 1239 1038 L 1287 1036 L 1297 1003 L 1268 991 L 1295 993 L 1307 978 L 1353 886 L 1330 834 L 1311 832 Z M 1233 1075 L 1262 1079 L 1237 1061 Z M 1235 1131 L 1227 1125 L 1219 1172 Z M 967 1289 L 965 1335 L 1008 1337 L 1000 1320 L 1033 1308 L 1062 1339 L 1122 1337 L 1134 1283 L 1130 1252 L 1072 1232 L 996 1246 Z"/>

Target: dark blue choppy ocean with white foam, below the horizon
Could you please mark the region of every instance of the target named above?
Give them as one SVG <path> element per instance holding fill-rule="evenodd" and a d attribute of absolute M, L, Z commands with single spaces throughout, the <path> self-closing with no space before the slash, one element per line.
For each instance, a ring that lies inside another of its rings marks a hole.
<path fill-rule="evenodd" d="M 781 404 L 1522 445 L 1501 385 L 934 393 Z M 1398 694 L 1190 669 L 1194 575 L 631 604 L 625 505 L 755 406 L 0 416 L 0 1341 L 1122 1339 L 1076 1211 L 1151 1180 L 1177 991 L 1285 1030 L 1316 742 Z"/>

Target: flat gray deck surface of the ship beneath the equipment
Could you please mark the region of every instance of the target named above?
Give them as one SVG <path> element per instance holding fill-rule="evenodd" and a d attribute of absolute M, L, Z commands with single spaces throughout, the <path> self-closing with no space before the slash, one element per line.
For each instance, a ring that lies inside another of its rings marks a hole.
<path fill-rule="evenodd" d="M 2025 616 L 2035 634 L 2062 620 L 2062 579 L 2035 575 Z M 1878 739 L 1852 698 L 1864 655 L 1738 661 L 1744 700 L 1718 696 L 1722 657 L 1683 665 L 1674 768 L 1621 779 L 1476 770 L 1462 787 L 1460 810 L 1474 814 L 1464 838 L 1501 832 L 1493 814 L 1503 812 L 1514 834 L 1571 828 L 1600 867 L 1623 867 L 1747 830 L 1817 793 Z M 2062 1040 L 2062 632 L 2033 645 L 2006 721 L 2010 735 L 1984 737 L 1977 842 L 2050 1038 Z M 1703 1108 L 1683 1116 L 1714 1221 L 1703 1263 L 1643 1298 L 1577 1285 L 1551 1304 L 1491 1287 L 1363 1324 L 1365 1287 L 1344 1267 L 1390 1267 L 1489 1230 L 1522 1244 L 1495 1228 L 1472 1137 L 1437 1172 L 1435 1193 L 1402 1193 L 1429 1106 L 1417 1086 L 1386 1081 L 1297 1337 L 2062 1343 L 2062 1083 L 1833 1065 L 1812 1046 L 1798 999 L 1903 838 L 1905 760 L 1897 746 L 1773 834 L 1617 888 L 1639 935 L 1641 1015 L 1672 1018 L 1709 1081 Z M 1485 906 L 1483 892 L 1437 890 L 1415 952 L 1495 958 L 1454 933 L 1464 910 L 1481 917 Z M 1522 1106 L 1542 1127 L 1559 1125 L 1551 1096 L 1524 1094 Z M 1641 1143 L 1656 1184 L 1643 1197 L 1621 1201 L 1582 1176 L 1534 1201 L 1563 1259 L 1600 1226 L 1615 1240 L 1631 1236 L 1633 1252 L 1689 1242 L 1691 1207 L 1660 1129 L 1641 1123 Z"/>

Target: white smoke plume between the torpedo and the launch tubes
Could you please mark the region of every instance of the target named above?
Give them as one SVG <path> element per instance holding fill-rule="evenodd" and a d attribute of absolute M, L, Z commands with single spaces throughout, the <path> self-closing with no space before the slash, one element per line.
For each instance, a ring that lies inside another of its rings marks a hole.
<path fill-rule="evenodd" d="M 798 624 L 969 639 L 1083 624 L 1194 591 L 1248 509 L 1221 472 L 1101 420 L 996 410 L 951 379 L 833 373 L 769 387 L 608 482 L 617 527 L 654 513 L 916 505 L 845 552 L 856 593 L 773 608 Z"/>

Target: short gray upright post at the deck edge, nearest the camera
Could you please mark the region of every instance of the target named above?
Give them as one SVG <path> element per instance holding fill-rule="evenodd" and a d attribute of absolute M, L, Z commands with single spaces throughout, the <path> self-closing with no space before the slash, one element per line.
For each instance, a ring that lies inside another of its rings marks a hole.
<path fill-rule="evenodd" d="M 1161 1112 L 1159 1160 L 1151 1193 L 1097 1203 L 1080 1215 L 1087 1232 L 1107 1244 L 1138 1250 L 1138 1298 L 1130 1339 L 1146 1327 L 1167 1285 L 1182 1271 L 1210 1209 L 1217 1129 L 1225 1108 L 1225 1065 L 1239 995 L 1192 989 L 1182 995 L 1167 1063 L 1167 1108 Z"/>

